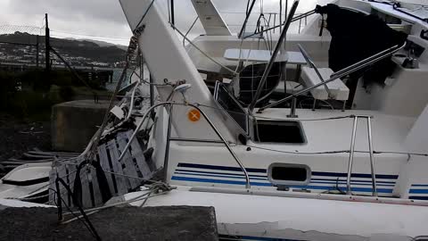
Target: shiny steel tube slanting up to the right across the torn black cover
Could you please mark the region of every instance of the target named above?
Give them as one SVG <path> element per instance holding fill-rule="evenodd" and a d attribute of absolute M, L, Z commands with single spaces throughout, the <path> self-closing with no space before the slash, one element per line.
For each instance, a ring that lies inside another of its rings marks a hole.
<path fill-rule="evenodd" d="M 268 108 L 270 108 L 272 106 L 275 106 L 277 104 L 282 104 L 282 103 L 284 103 L 284 102 L 292 99 L 293 97 L 297 97 L 297 96 L 300 96 L 302 94 L 306 94 L 309 91 L 311 91 L 312 89 L 320 87 L 320 86 L 323 86 L 323 85 L 326 85 L 327 83 L 330 83 L 330 82 L 332 82 L 335 79 L 341 79 L 342 77 L 347 76 L 350 73 L 353 73 L 355 71 L 359 71 L 362 68 L 364 68 L 364 67 L 366 67 L 366 66 L 368 66 L 368 65 L 370 65 L 370 64 L 372 64 L 374 62 L 378 62 L 378 61 L 380 61 L 380 60 L 382 60 L 382 59 L 390 56 L 391 54 L 394 54 L 395 52 L 399 51 L 404 46 L 406 46 L 406 43 L 403 46 L 392 46 L 392 47 L 390 47 L 390 48 L 388 48 L 386 50 L 383 50 L 381 52 L 381 53 L 384 53 L 384 54 L 381 54 L 381 55 L 379 55 L 380 53 L 379 54 L 374 54 L 373 56 L 370 56 L 370 57 L 368 57 L 368 58 L 366 58 L 366 59 L 364 59 L 364 60 L 362 60 L 360 62 L 354 63 L 354 64 L 350 65 L 349 67 L 346 67 L 345 69 L 343 69 L 341 71 L 337 71 L 337 72 L 333 73 L 331 75 L 330 79 L 327 79 L 324 82 L 320 82 L 317 85 L 314 85 L 312 87 L 307 87 L 305 89 L 302 89 L 299 92 L 297 92 L 296 94 L 292 94 L 290 96 L 284 97 L 283 99 L 278 100 L 275 103 L 265 105 L 265 106 L 259 108 L 258 112 L 263 112 L 264 110 L 266 110 L 266 109 L 268 109 Z M 378 56 L 378 57 L 374 57 L 374 56 Z M 352 68 L 350 68 L 350 67 L 352 67 Z"/>

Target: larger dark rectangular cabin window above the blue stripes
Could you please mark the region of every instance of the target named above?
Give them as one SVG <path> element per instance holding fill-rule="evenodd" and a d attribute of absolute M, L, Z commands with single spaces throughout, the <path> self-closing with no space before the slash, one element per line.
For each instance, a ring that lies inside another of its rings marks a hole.
<path fill-rule="evenodd" d="M 305 144 L 306 137 L 300 121 L 257 120 L 254 123 L 255 142 Z"/>

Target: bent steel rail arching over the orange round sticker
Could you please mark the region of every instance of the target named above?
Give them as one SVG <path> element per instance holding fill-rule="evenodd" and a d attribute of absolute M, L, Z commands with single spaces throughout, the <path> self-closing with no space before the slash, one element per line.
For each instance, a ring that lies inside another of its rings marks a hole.
<path fill-rule="evenodd" d="M 171 101 L 169 101 L 169 102 L 161 102 L 161 103 L 158 103 L 158 104 L 154 104 L 146 112 L 144 112 L 144 115 L 143 115 L 142 119 L 140 120 L 140 122 L 138 123 L 138 125 L 136 125 L 136 130 L 134 131 L 134 133 L 132 134 L 132 136 L 129 137 L 128 143 L 127 143 L 127 145 L 125 145 L 125 148 L 123 148 L 122 153 L 119 156 L 118 162 L 120 162 L 123 159 L 123 157 L 125 156 L 128 148 L 129 148 L 129 145 L 131 145 L 132 140 L 134 140 L 134 138 L 136 137 L 136 133 L 138 132 L 138 130 L 143 126 L 144 120 L 147 118 L 147 116 L 149 115 L 149 113 L 151 113 L 155 108 L 157 108 L 157 107 L 159 107 L 161 105 L 167 105 L 167 104 L 169 104 L 170 106 L 173 106 L 174 104 L 184 105 L 184 106 L 192 106 L 193 108 L 195 108 L 196 110 L 198 110 L 199 112 L 202 113 L 203 118 L 205 118 L 205 120 L 207 120 L 207 122 L 210 124 L 210 127 L 214 130 L 214 132 L 216 132 L 217 136 L 221 139 L 221 141 L 223 142 L 223 144 L 226 145 L 226 148 L 229 151 L 229 153 L 234 157 L 235 162 L 238 163 L 238 165 L 241 168 L 241 170 L 243 170 L 243 174 L 245 176 L 245 188 L 250 188 L 251 187 L 250 176 L 249 176 L 247 170 L 245 169 L 245 167 L 243 166 L 243 162 L 241 162 L 239 160 L 239 158 L 236 156 L 234 150 L 232 150 L 232 147 L 230 147 L 230 145 L 226 141 L 226 138 L 221 135 L 220 131 L 216 128 L 216 126 L 210 120 L 210 118 L 208 117 L 208 115 L 205 112 L 203 112 L 202 109 L 198 105 L 196 105 L 196 104 L 189 104 L 189 103 L 187 103 L 187 104 L 181 104 L 181 103 L 176 103 L 176 102 L 171 102 Z M 171 114 L 171 113 L 169 113 L 169 114 Z M 166 152 L 169 153 L 169 149 L 167 149 Z"/>

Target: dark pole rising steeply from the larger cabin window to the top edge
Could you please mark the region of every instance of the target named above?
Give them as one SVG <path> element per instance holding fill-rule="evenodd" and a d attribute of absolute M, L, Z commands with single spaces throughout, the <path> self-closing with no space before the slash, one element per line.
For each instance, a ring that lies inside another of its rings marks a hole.
<path fill-rule="evenodd" d="M 281 47 L 283 45 L 284 38 L 287 35 L 288 28 L 290 27 L 290 24 L 292 23 L 291 22 L 292 21 L 292 16 L 294 15 L 294 12 L 296 12 L 296 9 L 297 9 L 298 5 L 299 5 L 299 0 L 294 0 L 294 3 L 292 3 L 292 9 L 290 10 L 290 15 L 289 15 L 287 21 L 285 21 L 284 29 L 281 32 L 281 36 L 279 37 L 278 42 L 276 43 L 274 52 L 270 56 L 270 60 L 268 62 L 268 66 L 266 66 L 266 69 L 263 72 L 263 76 L 260 79 L 259 87 L 257 87 L 256 94 L 254 95 L 254 97 L 253 97 L 253 99 L 251 101 L 251 104 L 248 106 L 249 112 L 252 112 L 252 110 L 254 110 L 254 107 L 257 104 L 257 101 L 259 99 L 259 96 L 261 94 L 263 86 L 265 85 L 265 82 L 268 79 L 269 72 L 272 69 L 272 66 L 274 65 L 274 62 L 276 60 L 276 55 L 278 54 L 279 50 L 281 49 Z"/>

